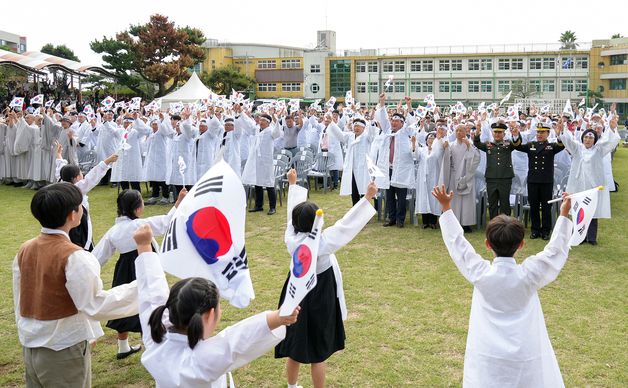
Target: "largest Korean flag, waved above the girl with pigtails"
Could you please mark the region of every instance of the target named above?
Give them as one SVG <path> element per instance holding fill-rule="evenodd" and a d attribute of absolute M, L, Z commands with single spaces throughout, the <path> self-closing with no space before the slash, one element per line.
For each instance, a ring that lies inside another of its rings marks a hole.
<path fill-rule="evenodd" d="M 244 247 L 246 195 L 224 160 L 192 187 L 177 207 L 161 246 L 161 263 L 178 277 L 211 280 L 238 308 L 255 298 Z"/>

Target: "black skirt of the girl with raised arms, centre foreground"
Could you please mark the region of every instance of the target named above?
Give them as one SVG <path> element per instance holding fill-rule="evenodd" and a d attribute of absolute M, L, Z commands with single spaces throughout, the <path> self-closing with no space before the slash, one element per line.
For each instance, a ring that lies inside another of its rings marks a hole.
<path fill-rule="evenodd" d="M 290 273 L 281 290 L 279 306 L 286 296 Z M 275 358 L 290 357 L 302 364 L 327 360 L 345 348 L 345 328 L 336 296 L 334 269 L 316 275 L 316 287 L 301 301 L 297 322 L 286 327 L 286 338 L 275 347 Z"/>

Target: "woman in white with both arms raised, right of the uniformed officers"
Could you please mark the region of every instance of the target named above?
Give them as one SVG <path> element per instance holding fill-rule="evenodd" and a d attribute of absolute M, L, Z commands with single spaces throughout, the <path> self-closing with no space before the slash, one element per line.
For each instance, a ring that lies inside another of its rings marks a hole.
<path fill-rule="evenodd" d="M 611 197 L 606 187 L 604 176 L 604 157 L 617 147 L 621 140 L 617 133 L 617 117 L 611 120 L 608 128 L 598 140 L 597 132 L 587 129 L 582 133 L 581 141 L 577 142 L 569 131 L 562 130 L 562 121 L 559 121 L 558 132 L 565 149 L 571 154 L 572 162 L 567 180 L 567 191 L 577 193 L 604 186 L 599 192 L 597 209 L 587 230 L 585 242 L 597 245 L 597 227 L 599 218 L 611 218 Z"/>

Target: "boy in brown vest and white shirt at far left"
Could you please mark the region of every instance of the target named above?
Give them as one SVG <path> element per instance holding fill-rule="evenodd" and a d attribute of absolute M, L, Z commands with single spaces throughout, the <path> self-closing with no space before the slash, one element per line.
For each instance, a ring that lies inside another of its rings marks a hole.
<path fill-rule="evenodd" d="M 103 290 L 100 264 L 72 244 L 83 198 L 71 183 L 40 189 L 31 213 L 41 234 L 13 261 L 13 299 L 27 387 L 89 387 L 89 341 L 104 333 L 98 320 L 137 314 L 136 283 Z"/>

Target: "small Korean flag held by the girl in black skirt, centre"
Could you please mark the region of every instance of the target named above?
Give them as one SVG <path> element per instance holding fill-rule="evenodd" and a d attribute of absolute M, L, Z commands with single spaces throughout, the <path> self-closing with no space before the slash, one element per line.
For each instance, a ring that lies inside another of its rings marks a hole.
<path fill-rule="evenodd" d="M 303 243 L 292 252 L 290 261 L 290 280 L 286 288 L 286 296 L 279 309 L 282 317 L 292 314 L 303 298 L 316 287 L 316 258 L 318 246 L 323 232 L 323 210 L 316 211 L 312 231 Z"/>

